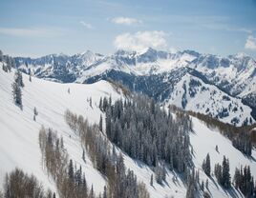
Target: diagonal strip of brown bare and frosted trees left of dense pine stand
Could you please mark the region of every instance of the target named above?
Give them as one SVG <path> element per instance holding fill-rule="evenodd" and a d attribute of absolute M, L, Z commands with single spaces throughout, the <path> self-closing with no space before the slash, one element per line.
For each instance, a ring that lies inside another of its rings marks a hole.
<path fill-rule="evenodd" d="M 103 195 L 107 194 L 107 197 L 148 197 L 146 188 L 138 183 L 134 172 L 130 169 L 126 170 L 121 153 L 117 154 L 115 147 L 111 151 L 107 139 L 97 125 L 90 126 L 82 116 L 77 117 L 69 110 L 66 111 L 65 117 L 67 124 L 80 136 L 82 145 L 87 148 L 94 166 L 108 179 Z"/>

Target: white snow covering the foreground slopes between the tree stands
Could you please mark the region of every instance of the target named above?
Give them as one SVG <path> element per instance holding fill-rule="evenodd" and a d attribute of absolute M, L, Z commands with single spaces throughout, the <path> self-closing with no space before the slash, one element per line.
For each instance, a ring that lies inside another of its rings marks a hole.
<path fill-rule="evenodd" d="M 1 65 L 1 64 L 0 64 Z M 101 111 L 97 108 L 100 96 L 111 95 L 113 100 L 122 97 L 113 87 L 105 81 L 99 81 L 92 85 L 81 84 L 59 84 L 48 82 L 42 79 L 23 74 L 25 88 L 23 93 L 23 110 L 13 104 L 11 95 L 11 83 L 13 73 L 6 73 L 0 69 L 0 183 L 3 182 L 7 171 L 18 167 L 26 172 L 33 173 L 45 187 L 54 189 L 53 181 L 48 178 L 46 172 L 41 167 L 41 153 L 38 145 L 38 132 L 41 125 L 56 129 L 59 135 L 64 138 L 65 147 L 70 158 L 75 160 L 77 165 L 81 165 L 86 173 L 88 185 L 94 184 L 96 192 L 103 190 L 106 181 L 104 177 L 95 169 L 86 156 L 86 164 L 82 161 L 82 148 L 78 137 L 67 126 L 64 120 L 64 111 L 71 111 L 88 118 L 90 123 L 97 123 Z M 68 93 L 70 89 L 70 93 Z M 89 98 L 92 97 L 92 108 Z M 36 122 L 33 121 L 33 108 L 38 110 Z M 230 141 L 217 130 L 208 129 L 197 118 L 193 118 L 194 133 L 191 133 L 191 145 L 194 148 L 194 164 L 201 169 L 201 180 L 206 180 L 206 175 L 202 171 L 202 163 L 209 152 L 211 157 L 211 167 L 223 160 L 223 155 L 229 158 L 230 173 L 234 174 L 234 168 L 241 165 L 250 165 L 252 174 L 256 177 L 256 152 L 253 150 L 252 158 L 248 159 L 239 150 L 233 148 Z M 219 146 L 220 153 L 216 152 L 215 146 Z M 166 195 L 174 197 L 184 197 L 186 188 L 179 177 L 175 179 L 175 173 L 167 171 L 166 183 L 162 186 L 154 182 L 154 187 L 150 186 L 151 168 L 139 163 L 124 154 L 124 162 L 127 168 L 135 171 L 139 181 L 146 184 L 151 197 L 163 198 Z M 209 179 L 209 188 L 213 197 L 231 197 L 221 188 L 216 179 Z M 234 191 L 238 197 L 241 196 Z"/>

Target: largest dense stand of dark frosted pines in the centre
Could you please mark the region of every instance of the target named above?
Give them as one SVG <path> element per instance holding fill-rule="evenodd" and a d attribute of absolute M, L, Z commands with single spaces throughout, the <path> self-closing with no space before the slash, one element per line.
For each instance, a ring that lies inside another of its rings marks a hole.
<path fill-rule="evenodd" d="M 180 173 L 192 166 L 188 135 L 191 120 L 185 113 L 173 119 L 170 112 L 140 95 L 131 101 L 117 100 L 113 105 L 111 98 L 100 99 L 99 109 L 106 113 L 110 141 L 132 158 L 153 167 L 166 164 L 166 168 Z"/>

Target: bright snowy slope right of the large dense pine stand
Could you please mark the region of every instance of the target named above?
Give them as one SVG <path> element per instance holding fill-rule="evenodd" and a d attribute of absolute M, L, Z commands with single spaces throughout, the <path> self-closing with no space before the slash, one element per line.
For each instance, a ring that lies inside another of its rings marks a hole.
<path fill-rule="evenodd" d="M 192 118 L 193 129 L 195 133 L 191 133 L 190 141 L 194 148 L 194 164 L 196 167 L 201 168 L 203 159 L 205 159 L 207 153 L 210 154 L 211 158 L 211 169 L 213 171 L 214 165 L 217 163 L 222 164 L 224 155 L 229 159 L 230 163 L 230 176 L 231 181 L 235 173 L 235 168 L 240 168 L 245 165 L 250 166 L 253 177 L 256 175 L 256 150 L 252 150 L 252 157 L 247 158 L 238 149 L 232 147 L 232 143 L 216 129 L 207 128 L 202 121 L 197 118 Z M 218 145 L 219 152 L 216 151 L 215 147 Z M 205 182 L 206 175 L 203 173 L 201 168 L 200 172 L 201 180 Z M 212 176 L 213 180 L 209 179 L 209 188 L 212 197 L 240 197 L 240 192 L 231 189 L 224 190 L 216 182 L 215 176 Z"/>

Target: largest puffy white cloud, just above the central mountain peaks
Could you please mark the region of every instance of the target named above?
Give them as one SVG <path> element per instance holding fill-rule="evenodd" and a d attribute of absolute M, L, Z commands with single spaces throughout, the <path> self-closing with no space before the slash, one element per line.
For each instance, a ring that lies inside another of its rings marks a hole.
<path fill-rule="evenodd" d="M 132 33 L 122 33 L 117 35 L 114 46 L 117 49 L 127 49 L 141 51 L 146 48 L 162 49 L 167 47 L 166 33 L 163 31 L 138 31 Z"/>

